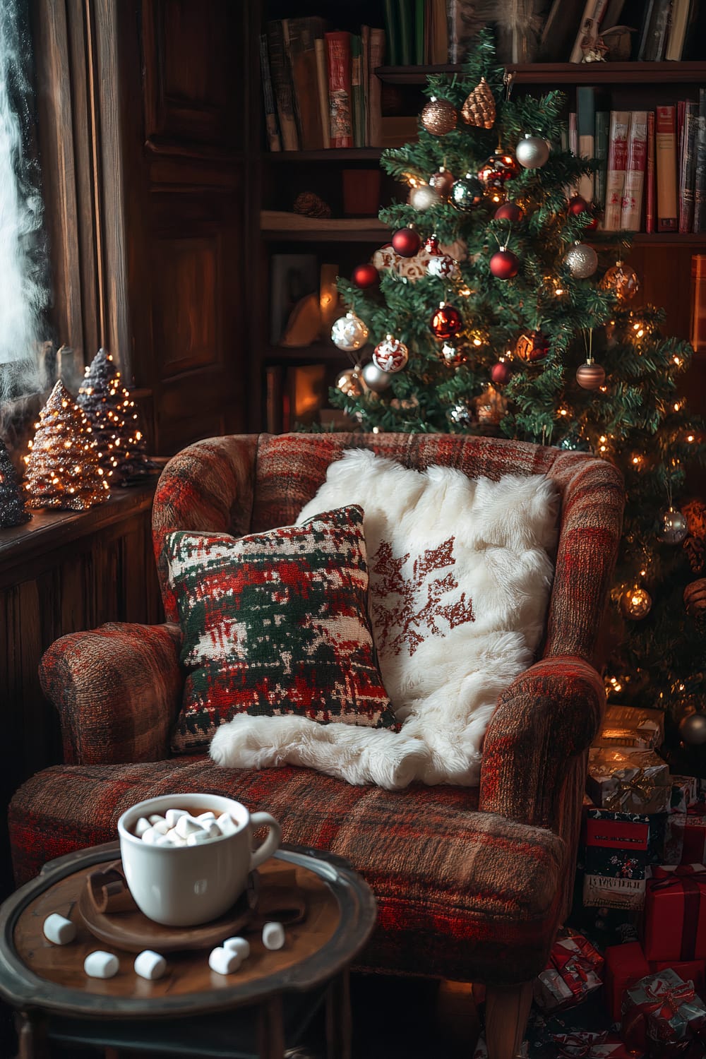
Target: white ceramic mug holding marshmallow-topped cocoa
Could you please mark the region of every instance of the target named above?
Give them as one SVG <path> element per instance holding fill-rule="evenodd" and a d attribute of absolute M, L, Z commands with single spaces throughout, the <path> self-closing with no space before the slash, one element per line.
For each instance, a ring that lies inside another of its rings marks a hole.
<path fill-rule="evenodd" d="M 212 809 L 228 812 L 236 830 L 197 846 L 155 846 L 133 834 L 141 816 L 167 809 L 193 813 Z M 252 832 L 267 826 L 270 833 L 254 852 Z M 134 902 L 155 922 L 195 927 L 216 919 L 235 903 L 248 884 L 248 874 L 271 857 L 282 841 L 282 828 L 269 812 L 248 811 L 245 805 L 217 794 L 163 794 L 130 806 L 117 821 L 123 872 Z"/>

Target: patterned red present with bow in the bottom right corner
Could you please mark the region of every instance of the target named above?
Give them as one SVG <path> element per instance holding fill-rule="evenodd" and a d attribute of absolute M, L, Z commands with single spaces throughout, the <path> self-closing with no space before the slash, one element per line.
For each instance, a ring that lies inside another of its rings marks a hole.
<path fill-rule="evenodd" d="M 705 1026 L 706 1006 L 693 983 L 671 969 L 640 979 L 622 998 L 622 1040 L 631 1049 L 649 1051 L 653 1059 L 681 1055 Z"/>

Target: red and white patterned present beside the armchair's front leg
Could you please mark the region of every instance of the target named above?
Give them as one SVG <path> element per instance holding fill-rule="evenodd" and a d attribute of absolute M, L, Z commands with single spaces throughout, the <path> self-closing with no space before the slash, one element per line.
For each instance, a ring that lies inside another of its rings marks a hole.
<path fill-rule="evenodd" d="M 535 1001 L 544 1011 L 561 1011 L 602 985 L 603 957 L 580 934 L 555 941 L 549 963 L 535 980 Z"/>

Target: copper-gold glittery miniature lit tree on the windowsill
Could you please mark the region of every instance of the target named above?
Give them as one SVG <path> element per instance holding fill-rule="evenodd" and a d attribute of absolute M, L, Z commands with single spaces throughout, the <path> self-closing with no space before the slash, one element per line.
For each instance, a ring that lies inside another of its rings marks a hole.
<path fill-rule="evenodd" d="M 108 482 L 98 465 L 91 426 L 61 380 L 35 424 L 24 456 L 24 488 L 30 507 L 85 511 L 108 499 Z"/>

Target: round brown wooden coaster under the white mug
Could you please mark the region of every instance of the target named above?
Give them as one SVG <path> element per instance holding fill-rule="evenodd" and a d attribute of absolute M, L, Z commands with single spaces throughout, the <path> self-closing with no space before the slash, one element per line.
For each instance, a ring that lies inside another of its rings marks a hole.
<path fill-rule="evenodd" d="M 251 872 L 248 887 L 233 908 L 218 919 L 199 927 L 165 927 L 148 919 L 135 907 L 125 912 L 99 912 L 91 900 L 88 886 L 82 887 L 78 913 L 91 934 L 127 952 L 209 949 L 247 927 L 255 913 L 259 891 L 259 874 Z"/>

